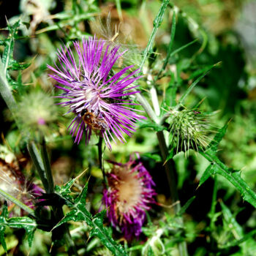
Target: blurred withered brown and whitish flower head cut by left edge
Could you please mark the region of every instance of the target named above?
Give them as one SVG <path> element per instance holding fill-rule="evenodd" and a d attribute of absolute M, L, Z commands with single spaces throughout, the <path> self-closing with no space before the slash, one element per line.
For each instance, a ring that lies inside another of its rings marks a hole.
<path fill-rule="evenodd" d="M 0 145 L 0 187 L 12 197 L 21 200 L 33 208 L 35 197 L 42 195 L 43 190 L 31 181 L 27 181 L 20 171 L 18 161 L 7 147 Z M 0 195 L 0 201 L 4 197 Z M 9 202 L 9 205 L 10 202 Z M 23 211 L 21 212 L 23 214 Z"/>

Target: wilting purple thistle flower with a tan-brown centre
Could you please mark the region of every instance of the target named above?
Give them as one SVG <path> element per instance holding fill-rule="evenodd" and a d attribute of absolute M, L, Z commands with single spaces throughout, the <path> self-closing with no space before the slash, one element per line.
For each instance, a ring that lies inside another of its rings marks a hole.
<path fill-rule="evenodd" d="M 143 163 L 132 158 L 126 164 L 111 162 L 113 168 L 107 174 L 109 187 L 104 189 L 102 197 L 109 221 L 127 240 L 140 236 L 146 211 L 155 203 L 156 195 L 154 181 Z"/>

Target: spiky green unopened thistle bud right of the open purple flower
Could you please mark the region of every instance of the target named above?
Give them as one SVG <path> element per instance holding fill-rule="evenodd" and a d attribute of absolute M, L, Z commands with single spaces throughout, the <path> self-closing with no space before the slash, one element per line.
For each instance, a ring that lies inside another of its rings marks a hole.
<path fill-rule="evenodd" d="M 210 142 L 208 132 L 210 124 L 208 114 L 198 110 L 170 110 L 171 143 L 176 143 L 177 151 L 187 151 L 198 147 L 205 148 Z"/>

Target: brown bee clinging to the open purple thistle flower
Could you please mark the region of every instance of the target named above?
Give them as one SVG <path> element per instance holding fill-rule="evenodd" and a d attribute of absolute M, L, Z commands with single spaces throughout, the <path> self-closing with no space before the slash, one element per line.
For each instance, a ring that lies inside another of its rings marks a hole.
<path fill-rule="evenodd" d="M 89 127 L 91 127 L 94 132 L 108 129 L 108 124 L 106 123 L 104 118 L 99 118 L 97 115 L 95 115 L 93 110 L 89 111 L 85 108 L 80 112 L 80 115 L 83 118 L 83 122 L 89 125 Z"/>

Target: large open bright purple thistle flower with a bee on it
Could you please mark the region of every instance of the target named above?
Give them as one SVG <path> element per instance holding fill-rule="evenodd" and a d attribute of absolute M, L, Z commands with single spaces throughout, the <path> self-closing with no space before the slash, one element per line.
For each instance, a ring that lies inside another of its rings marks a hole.
<path fill-rule="evenodd" d="M 70 134 L 75 135 L 75 143 L 80 143 L 83 132 L 86 143 L 91 138 L 91 130 L 105 139 L 108 148 L 111 148 L 110 138 L 116 138 L 122 143 L 126 142 L 124 133 L 131 136 L 135 132 L 135 122 L 145 118 L 132 109 L 136 105 L 127 99 L 139 91 L 132 85 L 140 76 L 135 77 L 140 70 L 137 69 L 127 74 L 125 67 L 115 75 L 111 72 L 113 65 L 125 53 L 119 53 L 119 47 L 111 48 L 102 39 L 96 37 L 83 39 L 82 45 L 74 42 L 78 55 L 78 63 L 75 61 L 70 48 L 64 47 L 58 50 L 58 58 L 61 67 L 50 67 L 54 75 L 51 78 L 61 83 L 57 86 L 64 91 L 59 98 L 65 99 L 60 105 L 69 106 L 69 112 L 75 113 L 69 127 Z M 132 86 L 130 86 L 132 85 Z"/>

